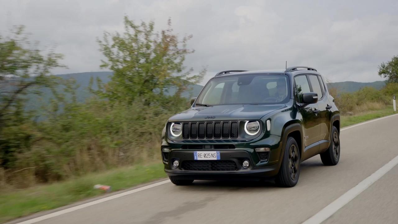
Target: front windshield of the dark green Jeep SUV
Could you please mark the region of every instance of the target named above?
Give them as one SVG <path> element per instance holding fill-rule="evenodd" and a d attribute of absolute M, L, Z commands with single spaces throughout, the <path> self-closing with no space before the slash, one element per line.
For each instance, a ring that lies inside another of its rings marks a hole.
<path fill-rule="evenodd" d="M 276 104 L 289 98 L 287 75 L 238 75 L 212 79 L 196 103 Z"/>

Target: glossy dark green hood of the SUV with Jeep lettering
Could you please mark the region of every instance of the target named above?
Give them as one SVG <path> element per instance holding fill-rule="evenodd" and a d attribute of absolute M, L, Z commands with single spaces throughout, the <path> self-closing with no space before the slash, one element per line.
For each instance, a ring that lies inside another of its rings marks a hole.
<path fill-rule="evenodd" d="M 175 114 L 169 122 L 207 121 L 207 120 L 259 120 L 265 114 L 286 107 L 278 105 L 219 105 L 193 107 Z"/>

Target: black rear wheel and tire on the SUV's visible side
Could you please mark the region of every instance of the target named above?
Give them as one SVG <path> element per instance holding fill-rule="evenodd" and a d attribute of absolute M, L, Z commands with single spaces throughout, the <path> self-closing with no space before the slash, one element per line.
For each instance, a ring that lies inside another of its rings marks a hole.
<path fill-rule="evenodd" d="M 326 166 L 334 166 L 340 159 L 340 136 L 337 128 L 333 126 L 332 141 L 330 142 L 328 150 L 321 153 L 322 163 Z"/>

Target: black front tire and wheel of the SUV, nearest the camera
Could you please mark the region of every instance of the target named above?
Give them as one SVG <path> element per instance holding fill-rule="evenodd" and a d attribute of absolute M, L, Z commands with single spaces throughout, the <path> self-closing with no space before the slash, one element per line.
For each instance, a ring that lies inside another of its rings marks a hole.
<path fill-rule="evenodd" d="M 300 150 L 294 138 L 286 140 L 281 168 L 276 176 L 275 183 L 280 187 L 294 187 L 300 176 Z"/>

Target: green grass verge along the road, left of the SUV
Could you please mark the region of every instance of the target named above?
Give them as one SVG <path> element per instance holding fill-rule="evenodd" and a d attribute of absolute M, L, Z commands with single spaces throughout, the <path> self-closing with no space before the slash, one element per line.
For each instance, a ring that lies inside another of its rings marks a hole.
<path fill-rule="evenodd" d="M 163 163 L 135 165 L 60 183 L 0 193 L 0 223 L 104 194 L 101 190 L 93 189 L 96 184 L 110 185 L 112 191 L 117 191 L 164 177 Z"/>

